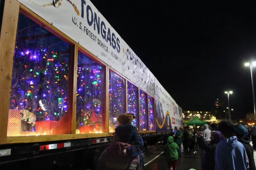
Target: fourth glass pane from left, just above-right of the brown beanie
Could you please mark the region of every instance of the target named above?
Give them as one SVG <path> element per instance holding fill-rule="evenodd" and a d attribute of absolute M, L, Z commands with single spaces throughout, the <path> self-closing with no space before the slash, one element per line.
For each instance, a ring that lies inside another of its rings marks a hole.
<path fill-rule="evenodd" d="M 137 126 L 138 113 L 139 113 L 139 101 L 138 101 L 139 89 L 135 85 L 127 81 L 127 102 L 128 102 L 128 112 L 133 113 L 136 117 L 133 120 L 132 125 Z M 138 128 L 138 127 L 137 127 Z"/>

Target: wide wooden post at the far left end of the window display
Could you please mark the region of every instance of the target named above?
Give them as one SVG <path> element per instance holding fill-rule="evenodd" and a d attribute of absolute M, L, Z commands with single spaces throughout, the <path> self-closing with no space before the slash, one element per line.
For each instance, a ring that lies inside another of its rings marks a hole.
<path fill-rule="evenodd" d="M 14 46 L 19 18 L 19 2 L 5 0 L 0 35 L 0 144 L 6 143 Z"/>

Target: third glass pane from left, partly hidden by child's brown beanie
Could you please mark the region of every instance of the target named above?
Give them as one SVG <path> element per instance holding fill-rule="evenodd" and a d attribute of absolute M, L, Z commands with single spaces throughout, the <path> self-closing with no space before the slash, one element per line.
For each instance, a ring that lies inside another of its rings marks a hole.
<path fill-rule="evenodd" d="M 109 132 L 117 127 L 117 117 L 126 112 L 125 80 L 109 70 Z"/>

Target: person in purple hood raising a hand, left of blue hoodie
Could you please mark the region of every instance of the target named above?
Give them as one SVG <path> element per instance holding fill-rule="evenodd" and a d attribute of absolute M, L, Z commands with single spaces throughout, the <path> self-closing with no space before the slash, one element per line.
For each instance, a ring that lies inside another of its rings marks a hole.
<path fill-rule="evenodd" d="M 212 131 L 210 138 L 211 142 L 209 145 L 205 142 L 204 136 L 199 135 L 197 138 L 199 147 L 205 151 L 201 163 L 202 170 L 215 170 L 214 153 L 221 140 L 221 132 Z"/>

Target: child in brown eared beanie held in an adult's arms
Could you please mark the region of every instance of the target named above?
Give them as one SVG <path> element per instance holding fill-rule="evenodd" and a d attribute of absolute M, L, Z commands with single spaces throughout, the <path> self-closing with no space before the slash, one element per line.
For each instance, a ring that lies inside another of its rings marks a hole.
<path fill-rule="evenodd" d="M 127 125 L 127 126 L 132 126 L 132 121 L 133 119 L 135 119 L 136 117 L 134 116 L 134 114 L 132 113 L 123 113 L 123 114 L 120 114 L 117 118 L 117 121 L 118 121 L 118 126 L 119 125 Z M 129 144 L 130 146 L 127 147 L 126 149 L 124 149 L 122 151 L 122 154 L 125 156 L 125 155 L 128 155 L 128 156 L 133 156 L 133 157 L 136 157 L 136 156 L 139 156 L 139 163 L 140 163 L 140 168 L 142 168 L 142 156 L 141 156 L 141 153 L 142 153 L 142 149 L 144 147 L 144 143 L 143 143 L 143 140 L 142 138 L 139 136 L 138 134 L 138 130 L 136 127 L 133 128 L 133 133 L 132 133 L 132 136 L 131 136 L 131 139 L 129 140 Z"/>

